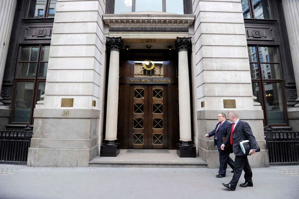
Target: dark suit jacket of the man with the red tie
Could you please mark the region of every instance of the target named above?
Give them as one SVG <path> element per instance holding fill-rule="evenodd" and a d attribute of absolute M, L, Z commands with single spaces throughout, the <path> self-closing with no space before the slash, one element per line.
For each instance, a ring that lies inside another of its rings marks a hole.
<path fill-rule="evenodd" d="M 223 144 L 228 144 L 230 142 L 230 134 L 231 134 L 232 124 L 230 124 L 228 134 L 223 142 Z M 233 152 L 236 156 L 245 156 L 240 147 L 240 142 L 243 140 L 249 140 L 249 144 L 251 149 L 255 149 L 252 146 L 255 146 L 256 139 L 252 133 L 252 130 L 247 122 L 243 122 L 239 120 L 232 135 L 233 139 Z"/>

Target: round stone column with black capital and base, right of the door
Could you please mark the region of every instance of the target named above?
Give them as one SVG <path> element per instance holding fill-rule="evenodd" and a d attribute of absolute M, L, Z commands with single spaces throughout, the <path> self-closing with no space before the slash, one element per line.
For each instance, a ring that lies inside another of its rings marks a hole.
<path fill-rule="evenodd" d="M 178 50 L 178 102 L 179 102 L 179 149 L 181 158 L 196 158 L 196 147 L 191 138 L 191 108 L 189 88 L 188 50 L 191 37 L 176 37 L 174 46 Z"/>

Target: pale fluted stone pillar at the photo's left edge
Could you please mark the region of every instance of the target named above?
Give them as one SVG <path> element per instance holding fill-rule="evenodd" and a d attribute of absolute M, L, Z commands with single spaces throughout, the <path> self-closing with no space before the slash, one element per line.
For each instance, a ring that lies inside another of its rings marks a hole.
<path fill-rule="evenodd" d="M 0 91 L 2 88 L 5 61 L 10 39 L 15 5 L 16 0 L 3 0 L 0 2 Z M 0 100 L 2 100 L 1 96 Z M 4 108 L 1 107 L 2 105 L 3 103 L 0 102 L 0 109 Z"/>

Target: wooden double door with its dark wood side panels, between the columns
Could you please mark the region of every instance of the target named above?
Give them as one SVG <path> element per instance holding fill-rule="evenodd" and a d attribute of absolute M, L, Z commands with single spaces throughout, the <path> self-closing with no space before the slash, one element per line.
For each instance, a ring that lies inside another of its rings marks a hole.
<path fill-rule="evenodd" d="M 121 148 L 176 148 L 176 91 L 175 85 L 120 85 L 118 139 Z"/>

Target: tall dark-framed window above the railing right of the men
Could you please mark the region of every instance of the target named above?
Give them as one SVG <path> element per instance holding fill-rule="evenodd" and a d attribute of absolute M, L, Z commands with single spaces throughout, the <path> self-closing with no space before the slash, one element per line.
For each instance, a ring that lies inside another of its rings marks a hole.
<path fill-rule="evenodd" d="M 286 124 L 278 47 L 248 46 L 253 95 L 264 110 L 264 124 Z M 257 53 L 259 59 L 257 59 Z"/>

